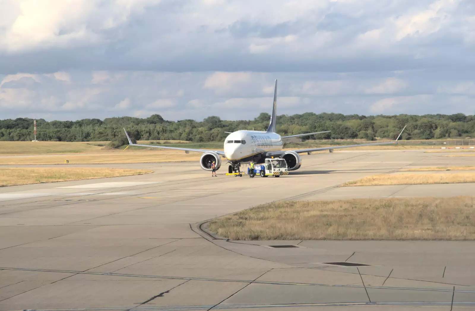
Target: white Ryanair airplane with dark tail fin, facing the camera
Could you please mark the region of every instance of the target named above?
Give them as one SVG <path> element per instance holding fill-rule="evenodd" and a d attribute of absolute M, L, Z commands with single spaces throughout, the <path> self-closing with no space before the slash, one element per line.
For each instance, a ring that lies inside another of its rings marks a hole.
<path fill-rule="evenodd" d="M 299 154 L 307 153 L 311 154 L 312 151 L 321 151 L 321 150 L 333 150 L 340 148 L 349 148 L 355 146 L 375 146 L 375 145 L 388 145 L 396 144 L 397 140 L 404 131 L 404 127 L 399 134 L 396 141 L 383 142 L 383 143 L 371 143 L 371 144 L 361 144 L 361 145 L 349 145 L 349 146 L 334 146 L 334 147 L 322 147 L 322 148 L 309 148 L 309 149 L 299 149 L 299 150 L 282 150 L 284 145 L 284 140 L 293 137 L 303 137 L 309 135 L 316 135 L 321 133 L 328 133 L 330 131 L 307 133 L 307 134 L 298 134 L 291 136 L 280 136 L 276 133 L 276 100 L 277 100 L 277 80 L 276 88 L 274 90 L 274 107 L 272 109 L 272 116 L 270 118 L 270 124 L 266 131 L 249 131 L 249 130 L 239 130 L 236 132 L 226 132 L 229 133 L 228 137 L 224 141 L 224 151 L 219 150 L 203 150 L 203 149 L 191 149 L 191 148 L 180 148 L 180 147 L 168 147 L 168 146 L 151 146 L 151 145 L 139 145 L 133 144 L 130 139 L 127 131 L 124 128 L 125 135 L 129 140 L 129 146 L 144 146 L 152 148 L 163 148 L 163 149 L 175 149 L 183 150 L 185 153 L 193 152 L 202 152 L 203 155 L 199 160 L 199 165 L 203 170 L 211 170 L 211 162 L 215 161 L 216 170 L 221 166 L 221 157 L 228 160 L 230 164 L 228 166 L 228 172 L 238 172 L 239 166 L 243 163 L 249 163 L 251 160 L 255 163 L 264 162 L 266 158 L 283 158 L 287 164 L 289 171 L 295 171 L 300 168 L 302 165 L 302 158 Z"/>

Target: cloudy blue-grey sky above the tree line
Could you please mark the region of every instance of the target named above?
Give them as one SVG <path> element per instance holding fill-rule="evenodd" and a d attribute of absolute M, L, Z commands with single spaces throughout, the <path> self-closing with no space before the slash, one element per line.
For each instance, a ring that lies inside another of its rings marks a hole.
<path fill-rule="evenodd" d="M 0 119 L 475 113 L 473 0 L 1 0 Z"/>

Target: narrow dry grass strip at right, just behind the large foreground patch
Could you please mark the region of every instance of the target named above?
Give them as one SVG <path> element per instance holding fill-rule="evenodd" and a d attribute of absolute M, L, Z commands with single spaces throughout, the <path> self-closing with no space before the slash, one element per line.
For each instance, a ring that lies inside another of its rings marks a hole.
<path fill-rule="evenodd" d="M 380 186 L 380 185 L 401 185 L 401 184 L 435 184 L 435 183 L 475 183 L 474 173 L 453 173 L 453 174 L 380 174 L 363 177 L 343 183 L 347 186 Z"/>

